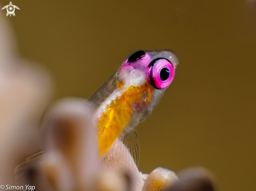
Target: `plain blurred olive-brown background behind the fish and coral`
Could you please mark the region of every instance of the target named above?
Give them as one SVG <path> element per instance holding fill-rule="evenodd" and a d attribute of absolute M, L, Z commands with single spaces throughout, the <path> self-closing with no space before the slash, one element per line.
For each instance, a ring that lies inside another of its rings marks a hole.
<path fill-rule="evenodd" d="M 139 169 L 204 166 L 220 190 L 256 190 L 256 1 L 12 2 L 20 55 L 50 71 L 54 100 L 90 98 L 137 50 L 176 52 L 172 85 L 138 126 Z"/>

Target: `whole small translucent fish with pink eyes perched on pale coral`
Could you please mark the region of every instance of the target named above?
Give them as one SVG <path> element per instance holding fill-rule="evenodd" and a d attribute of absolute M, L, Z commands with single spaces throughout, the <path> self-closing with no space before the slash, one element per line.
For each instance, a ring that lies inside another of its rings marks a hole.
<path fill-rule="evenodd" d="M 101 155 L 151 114 L 172 82 L 177 64 L 172 51 L 138 51 L 92 95 Z"/>

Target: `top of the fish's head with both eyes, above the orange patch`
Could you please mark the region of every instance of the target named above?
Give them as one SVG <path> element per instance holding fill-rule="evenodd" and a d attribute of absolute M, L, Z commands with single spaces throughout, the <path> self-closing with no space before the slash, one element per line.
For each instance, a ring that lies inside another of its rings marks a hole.
<path fill-rule="evenodd" d="M 177 56 L 169 50 L 137 51 L 121 65 L 119 79 L 127 87 L 148 82 L 154 89 L 162 90 L 171 84 L 177 64 Z"/>

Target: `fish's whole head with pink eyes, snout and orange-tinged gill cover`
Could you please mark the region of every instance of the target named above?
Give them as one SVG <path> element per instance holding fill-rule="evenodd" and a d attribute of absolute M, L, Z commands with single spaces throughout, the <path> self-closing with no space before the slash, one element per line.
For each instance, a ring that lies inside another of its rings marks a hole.
<path fill-rule="evenodd" d="M 117 71 L 116 76 L 124 89 L 131 90 L 126 92 L 138 89 L 133 92 L 140 95 L 131 100 L 138 122 L 145 120 L 158 105 L 174 79 L 178 62 L 176 54 L 170 50 L 137 51 Z"/>

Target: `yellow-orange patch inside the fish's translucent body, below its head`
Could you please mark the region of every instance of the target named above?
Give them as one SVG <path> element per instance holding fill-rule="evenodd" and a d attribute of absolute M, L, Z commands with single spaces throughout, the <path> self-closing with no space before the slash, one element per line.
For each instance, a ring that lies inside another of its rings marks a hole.
<path fill-rule="evenodd" d="M 118 87 L 120 82 L 117 82 Z M 130 86 L 120 97 L 107 106 L 98 120 L 98 143 L 101 155 L 113 144 L 128 125 L 131 114 L 150 104 L 154 88 L 148 82 L 142 86 Z"/>

